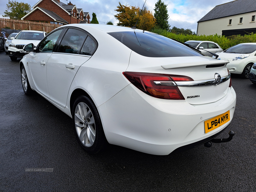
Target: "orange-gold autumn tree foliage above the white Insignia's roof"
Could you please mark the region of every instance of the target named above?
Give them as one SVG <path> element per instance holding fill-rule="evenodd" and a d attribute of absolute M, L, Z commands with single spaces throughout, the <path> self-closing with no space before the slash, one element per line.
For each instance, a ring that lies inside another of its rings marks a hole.
<path fill-rule="evenodd" d="M 117 6 L 117 8 L 118 9 L 115 9 L 115 11 L 119 13 L 114 15 L 114 17 L 119 20 L 119 23 L 117 23 L 119 26 L 134 27 L 137 20 L 137 29 L 150 31 L 155 26 L 154 16 L 146 7 L 141 10 L 140 7 L 121 5 L 119 2 L 119 6 Z"/>

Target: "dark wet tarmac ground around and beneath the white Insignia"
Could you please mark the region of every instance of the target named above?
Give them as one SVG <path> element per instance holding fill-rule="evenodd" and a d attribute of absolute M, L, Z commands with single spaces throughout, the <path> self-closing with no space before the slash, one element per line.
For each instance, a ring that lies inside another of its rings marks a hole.
<path fill-rule="evenodd" d="M 234 131 L 228 143 L 168 156 L 110 145 L 89 155 L 69 116 L 37 93 L 23 93 L 19 61 L 0 51 L 0 191 L 256 191 L 256 85 L 250 80 L 232 75 L 236 111 L 219 136 Z"/>

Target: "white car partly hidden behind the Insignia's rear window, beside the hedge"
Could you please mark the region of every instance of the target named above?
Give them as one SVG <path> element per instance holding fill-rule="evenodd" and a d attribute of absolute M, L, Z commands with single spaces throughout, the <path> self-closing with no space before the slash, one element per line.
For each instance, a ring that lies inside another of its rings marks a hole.
<path fill-rule="evenodd" d="M 201 51 L 204 55 L 212 57 L 212 54 L 215 54 L 216 52 L 221 52 L 223 49 L 212 41 L 186 41 L 185 44 L 189 44 L 190 46 L 194 47 L 195 49 L 198 49 Z M 211 52 L 211 53 L 210 53 Z"/>

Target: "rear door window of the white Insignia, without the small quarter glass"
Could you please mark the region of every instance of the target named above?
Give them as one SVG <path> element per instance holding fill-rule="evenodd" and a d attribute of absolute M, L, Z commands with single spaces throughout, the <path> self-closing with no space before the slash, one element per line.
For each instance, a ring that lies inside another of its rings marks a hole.
<path fill-rule="evenodd" d="M 61 41 L 58 52 L 78 54 L 86 38 L 86 33 L 77 29 L 68 29 Z"/>

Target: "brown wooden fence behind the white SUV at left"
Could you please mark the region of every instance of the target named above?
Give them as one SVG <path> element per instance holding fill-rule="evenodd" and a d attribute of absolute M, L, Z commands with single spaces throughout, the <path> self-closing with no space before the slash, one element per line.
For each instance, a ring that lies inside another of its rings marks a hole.
<path fill-rule="evenodd" d="M 41 23 L 41 22 L 28 21 L 28 20 L 14 20 L 14 19 L 0 18 L 0 29 L 9 27 L 10 29 L 36 30 L 36 31 L 45 31 L 49 33 L 59 26 L 61 25 L 52 24 L 52 23 Z"/>

